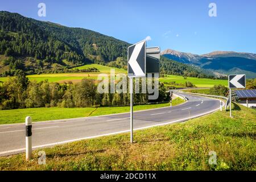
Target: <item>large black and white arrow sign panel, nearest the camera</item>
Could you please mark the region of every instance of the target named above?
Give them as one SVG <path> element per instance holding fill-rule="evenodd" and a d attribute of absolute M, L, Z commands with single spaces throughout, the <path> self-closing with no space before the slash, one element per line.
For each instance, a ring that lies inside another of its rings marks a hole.
<path fill-rule="evenodd" d="M 146 40 L 128 47 L 128 77 L 146 76 Z"/>

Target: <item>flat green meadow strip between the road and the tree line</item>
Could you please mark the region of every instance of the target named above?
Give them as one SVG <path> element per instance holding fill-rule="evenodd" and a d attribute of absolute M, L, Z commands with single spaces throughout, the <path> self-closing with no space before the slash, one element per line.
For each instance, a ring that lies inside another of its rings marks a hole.
<path fill-rule="evenodd" d="M 184 101 L 176 98 L 172 105 L 179 105 Z M 170 106 L 166 104 L 135 105 L 134 110 L 146 110 Z M 85 108 L 62 108 L 62 107 L 39 107 L 27 109 L 0 110 L 0 124 L 22 123 L 30 115 L 32 121 L 49 121 L 55 119 L 68 119 L 88 117 L 95 115 L 125 113 L 130 111 L 130 106 L 123 107 L 85 107 Z"/>

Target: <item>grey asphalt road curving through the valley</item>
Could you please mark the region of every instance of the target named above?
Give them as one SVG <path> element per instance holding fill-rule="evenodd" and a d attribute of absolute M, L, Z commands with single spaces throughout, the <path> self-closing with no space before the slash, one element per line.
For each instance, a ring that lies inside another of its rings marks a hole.
<path fill-rule="evenodd" d="M 218 100 L 182 95 L 188 98 L 184 104 L 134 112 L 134 129 L 183 122 L 220 108 Z M 33 149 L 48 147 L 81 139 L 125 133 L 129 129 L 130 113 L 35 122 L 32 124 L 32 146 Z M 0 156 L 17 154 L 24 150 L 24 123 L 0 125 Z"/>

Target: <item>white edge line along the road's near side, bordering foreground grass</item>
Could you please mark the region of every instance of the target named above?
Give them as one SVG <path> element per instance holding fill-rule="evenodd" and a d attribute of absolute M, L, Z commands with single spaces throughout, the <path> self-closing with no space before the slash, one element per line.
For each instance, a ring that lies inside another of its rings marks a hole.
<path fill-rule="evenodd" d="M 151 126 L 145 126 L 145 127 L 139 127 L 139 128 L 137 128 L 137 129 L 134 129 L 134 130 L 143 130 L 143 129 L 148 129 L 148 128 L 150 128 L 150 127 L 163 126 L 163 125 L 169 125 L 169 124 L 171 124 L 171 123 L 186 121 L 186 120 L 188 120 L 188 119 L 193 119 L 193 118 L 200 117 L 200 116 L 202 116 L 202 115 L 206 115 L 206 114 L 213 113 L 214 111 L 217 111 L 217 110 L 219 110 L 219 109 L 220 109 L 220 108 L 218 107 L 217 109 L 210 110 L 210 111 L 208 111 L 208 112 L 206 112 L 206 113 L 203 113 L 203 114 L 198 114 L 198 115 L 194 115 L 194 116 L 192 116 L 192 117 L 183 118 L 183 119 L 178 119 L 178 120 L 176 120 L 176 121 L 171 121 L 171 122 L 166 122 L 166 123 L 160 123 L 160 124 L 151 125 Z M 92 139 L 92 138 L 98 138 L 98 137 L 105 137 L 105 136 L 108 136 L 108 135 L 115 135 L 115 134 L 121 134 L 121 133 L 127 133 L 127 132 L 130 132 L 130 130 L 124 130 L 124 131 L 118 131 L 118 132 L 114 132 L 114 133 L 96 135 L 96 136 L 93 136 L 93 137 L 84 137 L 84 138 L 78 138 L 78 139 L 72 139 L 72 140 L 65 140 L 65 141 L 63 141 L 63 142 L 42 144 L 42 145 L 40 145 L 40 146 L 34 146 L 34 147 L 32 147 L 32 149 L 42 148 L 42 147 L 50 147 L 50 146 L 55 146 L 55 145 L 64 144 L 64 143 L 77 142 L 77 141 L 80 141 L 80 140 Z M 0 155 L 12 153 L 12 152 L 24 151 L 24 150 L 26 150 L 26 148 L 19 148 L 19 149 L 15 149 L 15 150 L 3 151 L 3 152 L 0 152 Z"/>

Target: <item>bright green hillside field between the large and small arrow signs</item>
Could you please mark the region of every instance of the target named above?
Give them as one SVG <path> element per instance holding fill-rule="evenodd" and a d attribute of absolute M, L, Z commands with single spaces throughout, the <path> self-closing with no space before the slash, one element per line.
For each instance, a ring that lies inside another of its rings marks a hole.
<path fill-rule="evenodd" d="M 228 86 L 228 80 L 213 80 L 209 78 L 195 78 L 195 77 L 187 77 L 184 79 L 183 76 L 175 76 L 175 75 L 167 75 L 167 77 L 162 77 L 159 79 L 160 82 L 172 82 L 185 84 L 186 81 L 192 82 L 197 87 L 212 87 L 214 85 L 224 85 Z"/>

